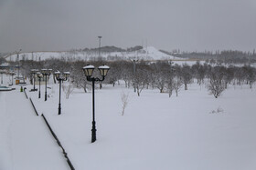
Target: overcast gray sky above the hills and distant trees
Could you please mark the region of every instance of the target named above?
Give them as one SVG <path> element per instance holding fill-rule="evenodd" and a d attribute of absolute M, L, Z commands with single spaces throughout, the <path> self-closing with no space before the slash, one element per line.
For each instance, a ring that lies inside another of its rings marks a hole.
<path fill-rule="evenodd" d="M 0 0 L 0 53 L 101 45 L 256 48 L 255 0 Z"/>

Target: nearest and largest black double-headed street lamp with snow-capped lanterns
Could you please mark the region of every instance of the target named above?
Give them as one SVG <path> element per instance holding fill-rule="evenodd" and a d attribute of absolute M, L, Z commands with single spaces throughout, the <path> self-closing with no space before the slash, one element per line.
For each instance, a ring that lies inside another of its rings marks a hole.
<path fill-rule="evenodd" d="M 99 71 L 101 73 L 101 79 L 98 77 L 91 77 L 94 66 L 93 65 L 87 65 L 83 68 L 84 75 L 87 78 L 87 81 L 92 82 L 92 128 L 91 128 L 91 143 L 96 141 L 96 122 L 95 122 L 95 106 L 94 106 L 94 85 L 95 82 L 101 82 L 105 79 L 105 76 L 107 75 L 110 67 L 108 65 L 101 65 L 99 66 Z"/>

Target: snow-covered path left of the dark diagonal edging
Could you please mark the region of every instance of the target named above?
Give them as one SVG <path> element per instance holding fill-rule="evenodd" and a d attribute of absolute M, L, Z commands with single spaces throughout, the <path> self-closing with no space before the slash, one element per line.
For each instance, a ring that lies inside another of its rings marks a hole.
<path fill-rule="evenodd" d="M 0 92 L 0 170 L 69 169 L 24 93 Z"/>

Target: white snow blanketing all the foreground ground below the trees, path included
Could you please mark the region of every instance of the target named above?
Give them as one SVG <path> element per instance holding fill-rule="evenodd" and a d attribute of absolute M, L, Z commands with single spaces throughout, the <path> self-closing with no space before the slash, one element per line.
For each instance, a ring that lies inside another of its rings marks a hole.
<path fill-rule="evenodd" d="M 91 144 L 91 90 L 84 93 L 74 89 L 69 99 L 62 93 L 62 115 L 58 115 L 59 85 L 50 80 L 48 101 L 44 101 L 44 85 L 40 99 L 38 92 L 29 92 L 32 85 L 27 85 L 27 95 L 38 113 L 46 115 L 77 170 L 256 169 L 256 85 L 252 89 L 249 85 L 230 85 L 217 99 L 208 95 L 205 86 L 196 83 L 170 98 L 156 89 L 144 89 L 137 96 L 133 88 L 123 84 L 103 85 L 95 91 L 97 141 Z M 22 109 L 18 112 L 25 106 L 31 109 L 19 87 L 16 91 L 0 92 L 0 170 L 62 170 L 63 165 L 69 169 L 59 146 L 40 122 L 41 116 L 33 112 L 27 115 Z M 122 94 L 128 95 L 124 115 Z M 4 102 L 7 96 L 12 96 L 8 103 Z M 14 115 L 6 112 L 9 102 L 16 109 Z M 8 129 L 16 129 L 12 137 L 6 132 Z M 27 131 L 45 134 L 32 133 L 32 137 Z M 48 143 L 35 145 L 36 139 L 38 143 Z M 29 145 L 17 145 L 16 140 Z M 20 149 L 25 146 L 26 149 Z M 21 152 L 36 157 L 25 159 Z M 44 156 L 47 153 L 54 161 L 48 161 Z M 28 161 L 31 166 L 21 161 Z"/>

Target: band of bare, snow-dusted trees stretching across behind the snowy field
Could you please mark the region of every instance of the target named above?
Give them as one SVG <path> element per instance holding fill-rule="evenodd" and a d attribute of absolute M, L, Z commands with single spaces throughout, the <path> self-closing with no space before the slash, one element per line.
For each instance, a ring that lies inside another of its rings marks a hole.
<path fill-rule="evenodd" d="M 111 67 L 104 84 L 115 86 L 123 81 L 125 87 L 133 88 L 137 95 L 144 89 L 158 89 L 159 93 L 167 93 L 170 97 L 181 88 L 188 90 L 188 85 L 196 82 L 208 88 L 210 94 L 218 98 L 229 85 L 249 85 L 252 88 L 256 81 L 256 69 L 251 65 L 234 66 L 220 64 L 177 65 L 171 61 L 70 61 L 67 59 L 48 59 L 45 61 L 20 61 L 22 75 L 31 77 L 31 69 L 51 68 L 53 72 L 69 71 L 69 83 L 75 88 L 82 88 L 87 92 L 91 83 L 86 80 L 82 67 L 94 65 L 95 68 L 104 64 Z M 16 65 L 11 62 L 10 65 Z M 99 76 L 99 72 L 93 73 Z M 98 74 L 98 75 L 97 75 Z M 100 88 L 102 85 L 99 85 Z"/>

